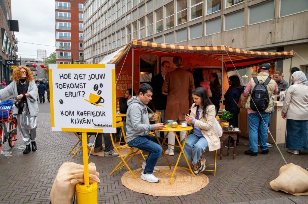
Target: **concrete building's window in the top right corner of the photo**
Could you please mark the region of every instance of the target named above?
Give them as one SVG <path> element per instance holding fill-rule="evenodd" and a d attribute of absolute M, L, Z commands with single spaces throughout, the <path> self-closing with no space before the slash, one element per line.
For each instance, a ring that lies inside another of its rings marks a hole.
<path fill-rule="evenodd" d="M 280 0 L 280 17 L 308 10 L 307 0 L 286 1 Z"/>

